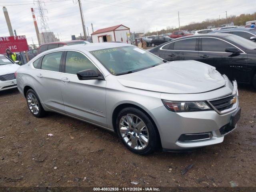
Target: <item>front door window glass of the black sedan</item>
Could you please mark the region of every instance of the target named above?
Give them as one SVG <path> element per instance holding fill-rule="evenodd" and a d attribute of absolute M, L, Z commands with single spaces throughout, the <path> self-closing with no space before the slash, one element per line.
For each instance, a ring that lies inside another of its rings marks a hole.
<path fill-rule="evenodd" d="M 231 44 L 215 38 L 202 38 L 202 51 L 225 52 L 226 48 L 233 47 Z"/>

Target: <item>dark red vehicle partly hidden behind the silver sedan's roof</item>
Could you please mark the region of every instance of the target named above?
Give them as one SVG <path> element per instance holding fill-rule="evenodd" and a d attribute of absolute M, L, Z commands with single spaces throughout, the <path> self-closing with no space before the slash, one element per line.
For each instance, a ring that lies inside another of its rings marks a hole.
<path fill-rule="evenodd" d="M 76 45 L 76 44 L 88 44 L 88 43 L 90 42 L 84 41 L 84 40 L 58 41 L 58 42 L 45 43 L 39 46 L 37 53 L 40 54 L 46 50 L 54 49 L 57 47 L 63 47 L 64 45 Z"/>

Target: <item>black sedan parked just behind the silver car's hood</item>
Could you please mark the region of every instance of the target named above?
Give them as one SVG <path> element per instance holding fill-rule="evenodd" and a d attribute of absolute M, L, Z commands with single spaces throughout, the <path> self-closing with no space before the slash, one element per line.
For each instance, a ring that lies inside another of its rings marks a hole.
<path fill-rule="evenodd" d="M 221 33 L 186 36 L 152 48 L 150 52 L 167 61 L 204 62 L 230 80 L 252 83 L 256 88 L 256 44 L 240 36 Z"/>

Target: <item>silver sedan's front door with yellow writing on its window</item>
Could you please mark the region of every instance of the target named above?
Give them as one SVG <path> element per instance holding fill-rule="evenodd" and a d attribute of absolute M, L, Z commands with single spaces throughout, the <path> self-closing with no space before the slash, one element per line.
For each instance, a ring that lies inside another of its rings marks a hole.
<path fill-rule="evenodd" d="M 65 58 L 60 78 L 66 114 L 106 127 L 106 81 L 78 79 L 77 72 L 97 69 L 81 52 L 68 51 Z"/>

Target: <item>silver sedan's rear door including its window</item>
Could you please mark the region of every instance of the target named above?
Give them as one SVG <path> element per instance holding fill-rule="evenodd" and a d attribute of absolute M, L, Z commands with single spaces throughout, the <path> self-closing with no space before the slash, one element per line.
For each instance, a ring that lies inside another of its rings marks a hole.
<path fill-rule="evenodd" d="M 46 54 L 33 62 L 34 89 L 40 101 L 48 108 L 64 112 L 60 86 L 60 61 L 64 52 L 58 51 Z M 41 63 L 42 62 L 42 63 Z"/>

